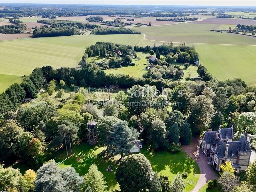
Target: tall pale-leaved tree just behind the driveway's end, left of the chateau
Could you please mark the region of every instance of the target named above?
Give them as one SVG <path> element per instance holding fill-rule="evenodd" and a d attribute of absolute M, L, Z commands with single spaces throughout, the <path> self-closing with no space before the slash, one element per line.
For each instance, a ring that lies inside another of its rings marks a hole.
<path fill-rule="evenodd" d="M 212 100 L 204 95 L 199 95 L 190 100 L 190 116 L 188 121 L 192 132 L 201 133 L 206 130 L 215 113 Z"/>

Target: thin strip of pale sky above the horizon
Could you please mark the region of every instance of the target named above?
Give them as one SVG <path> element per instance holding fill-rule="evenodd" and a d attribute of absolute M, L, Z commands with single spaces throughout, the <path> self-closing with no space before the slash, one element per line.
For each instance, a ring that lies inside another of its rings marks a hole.
<path fill-rule="evenodd" d="M 0 0 L 0 3 L 256 6 L 256 0 Z"/>

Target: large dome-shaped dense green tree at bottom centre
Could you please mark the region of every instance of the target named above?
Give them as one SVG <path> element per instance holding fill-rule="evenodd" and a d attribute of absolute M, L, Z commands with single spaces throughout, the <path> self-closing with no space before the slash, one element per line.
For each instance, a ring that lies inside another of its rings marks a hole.
<path fill-rule="evenodd" d="M 151 163 L 143 154 L 124 157 L 115 172 L 123 192 L 144 192 L 150 186 L 152 174 Z"/>

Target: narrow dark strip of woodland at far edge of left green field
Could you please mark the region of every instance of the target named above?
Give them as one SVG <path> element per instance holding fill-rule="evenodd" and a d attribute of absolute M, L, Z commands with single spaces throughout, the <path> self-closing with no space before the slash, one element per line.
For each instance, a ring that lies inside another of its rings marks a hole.
<path fill-rule="evenodd" d="M 93 35 L 109 35 L 109 34 L 140 34 L 138 31 L 132 29 L 118 27 L 118 28 L 100 28 L 93 29 L 91 34 Z"/>

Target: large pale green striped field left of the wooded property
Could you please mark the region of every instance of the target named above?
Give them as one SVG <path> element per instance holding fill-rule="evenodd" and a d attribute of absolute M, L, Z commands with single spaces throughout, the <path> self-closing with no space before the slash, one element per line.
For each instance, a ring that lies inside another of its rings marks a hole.
<path fill-rule="evenodd" d="M 1 81 L 0 93 L 15 78 L 29 75 L 36 67 L 77 67 L 84 48 L 97 41 L 134 46 L 143 41 L 143 35 L 75 35 L 0 41 L 0 78 L 12 76 Z"/>

